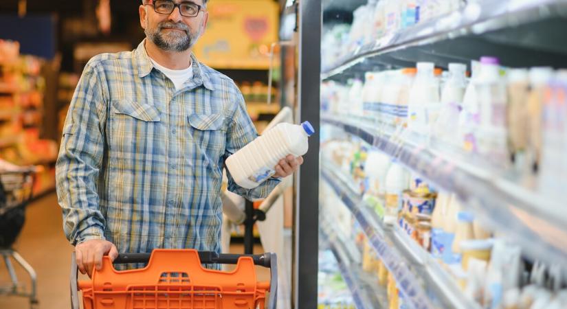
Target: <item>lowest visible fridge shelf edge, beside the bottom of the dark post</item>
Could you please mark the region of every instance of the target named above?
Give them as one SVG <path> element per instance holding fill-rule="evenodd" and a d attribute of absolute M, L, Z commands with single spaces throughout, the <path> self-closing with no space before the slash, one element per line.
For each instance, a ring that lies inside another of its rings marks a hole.
<path fill-rule="evenodd" d="M 388 308 L 386 290 L 379 288 L 370 276 L 362 270 L 357 262 L 350 256 L 352 250 L 348 249 L 346 242 L 329 224 L 323 220 L 321 226 L 322 243 L 331 249 L 344 282 L 351 290 L 357 309 Z"/>

